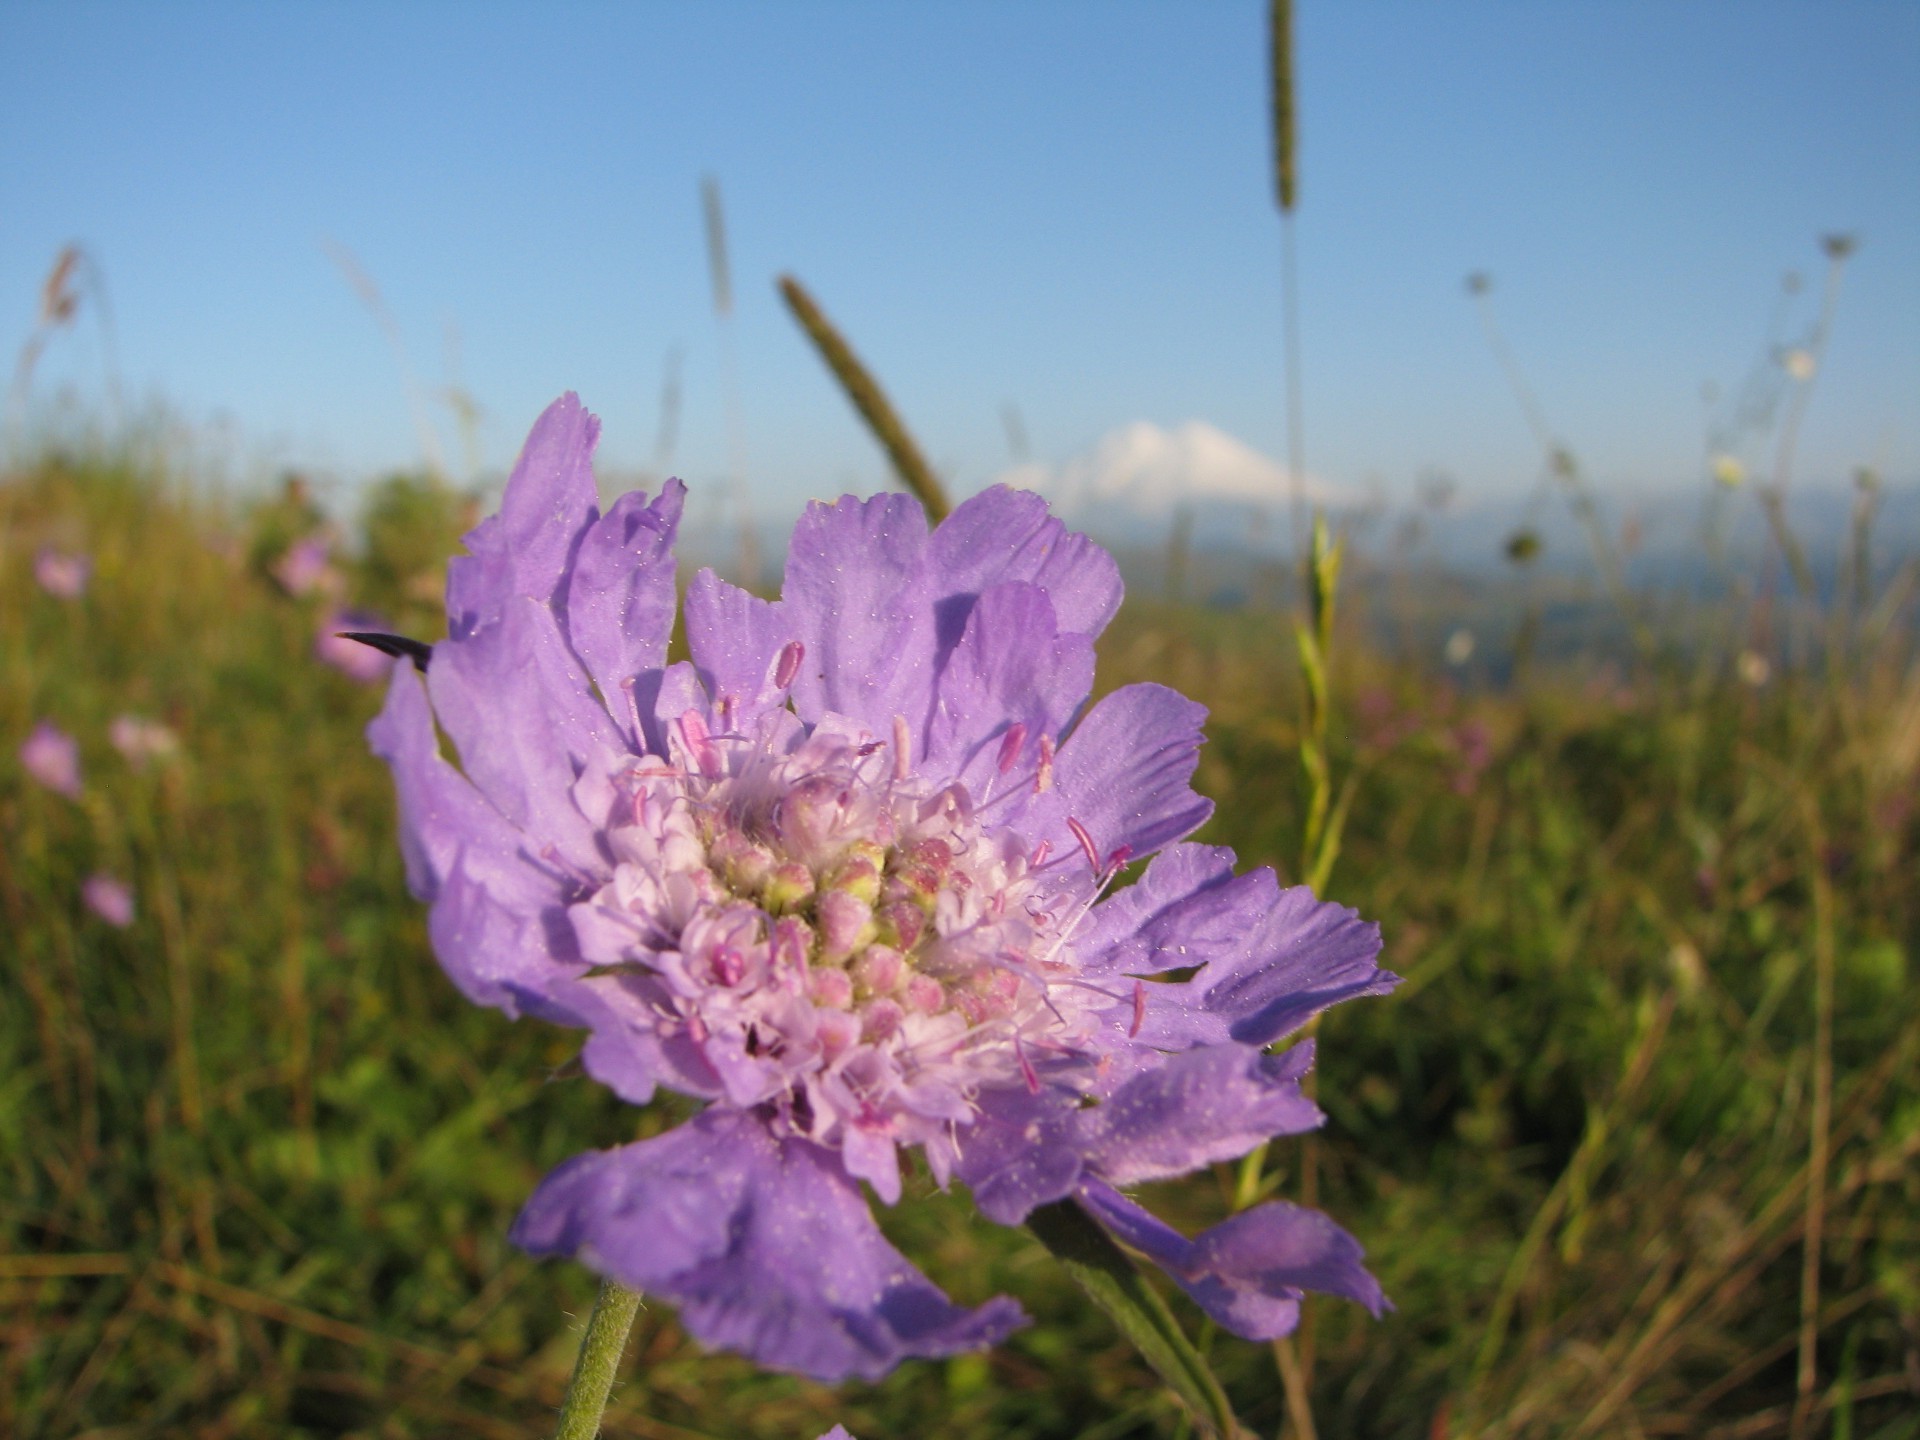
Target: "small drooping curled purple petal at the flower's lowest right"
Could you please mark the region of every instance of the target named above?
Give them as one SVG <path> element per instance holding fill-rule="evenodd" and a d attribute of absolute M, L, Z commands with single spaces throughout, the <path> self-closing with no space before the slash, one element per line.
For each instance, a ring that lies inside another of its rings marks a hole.
<path fill-rule="evenodd" d="M 1388 1308 L 1380 1283 L 1361 1265 L 1359 1242 L 1317 1210 L 1269 1202 L 1188 1240 L 1102 1181 L 1087 1181 L 1075 1198 L 1223 1329 L 1248 1340 L 1290 1334 L 1304 1290 L 1357 1300 L 1375 1315 Z"/>

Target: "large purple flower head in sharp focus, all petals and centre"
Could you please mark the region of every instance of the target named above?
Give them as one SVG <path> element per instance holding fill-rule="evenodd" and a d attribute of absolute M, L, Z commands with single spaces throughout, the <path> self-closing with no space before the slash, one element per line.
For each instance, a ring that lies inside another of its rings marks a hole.
<path fill-rule="evenodd" d="M 1006 488 L 931 534 L 906 495 L 812 505 L 783 597 L 703 570 L 668 664 L 685 490 L 601 515 L 597 438 L 574 396 L 540 419 L 451 563 L 449 639 L 369 732 L 455 983 L 584 1027 L 634 1104 L 707 1102 L 561 1165 L 515 1240 L 710 1346 L 872 1379 L 1025 1319 L 954 1306 L 876 1229 L 858 1183 L 895 1202 L 918 1148 L 1004 1225 L 1081 1204 L 1238 1334 L 1290 1331 L 1304 1288 L 1379 1311 L 1315 1212 L 1188 1240 L 1121 1194 L 1321 1123 L 1311 1044 L 1265 1046 L 1394 977 L 1352 910 L 1175 843 L 1212 810 L 1202 707 L 1087 708 L 1112 557 Z"/>

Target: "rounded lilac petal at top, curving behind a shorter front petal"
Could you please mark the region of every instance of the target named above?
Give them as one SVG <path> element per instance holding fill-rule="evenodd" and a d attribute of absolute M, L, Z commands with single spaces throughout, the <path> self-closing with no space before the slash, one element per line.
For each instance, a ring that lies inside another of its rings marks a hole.
<path fill-rule="evenodd" d="M 939 588 L 941 649 L 966 626 L 972 597 L 1010 580 L 1046 591 L 1060 632 L 1106 630 L 1119 609 L 1119 566 L 1087 536 L 1069 532 L 1031 490 L 995 486 L 962 501 L 941 520 L 929 545 Z M 968 601 L 956 605 L 954 601 Z"/>

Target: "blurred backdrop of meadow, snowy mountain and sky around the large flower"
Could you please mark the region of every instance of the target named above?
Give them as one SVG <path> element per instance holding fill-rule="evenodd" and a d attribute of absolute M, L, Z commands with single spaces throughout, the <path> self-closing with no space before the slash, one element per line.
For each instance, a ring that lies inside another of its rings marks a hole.
<path fill-rule="evenodd" d="M 1920 8 L 1306 0 L 1284 136 L 1271 19 L 0 6 L 0 1432 L 541 1432 L 591 1284 L 505 1227 L 670 1116 L 434 968 L 334 634 L 436 636 L 563 390 L 776 591 L 899 484 L 791 275 L 1407 977 L 1156 1198 L 1398 1304 L 1292 1394 L 1183 1311 L 1242 1419 L 1920 1434 Z M 1037 1325 L 828 1392 L 662 1308 L 609 1434 L 1190 1434 L 1031 1240 L 885 1223 Z"/>

